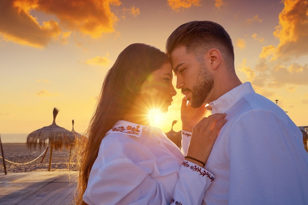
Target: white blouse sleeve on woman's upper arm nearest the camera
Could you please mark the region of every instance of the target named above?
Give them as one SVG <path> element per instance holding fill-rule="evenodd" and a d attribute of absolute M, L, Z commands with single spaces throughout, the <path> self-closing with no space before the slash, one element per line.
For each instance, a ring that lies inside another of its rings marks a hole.
<path fill-rule="evenodd" d="M 88 182 L 84 201 L 89 205 L 165 205 L 162 185 L 144 168 L 149 168 L 153 161 L 140 163 L 122 158 L 99 168 L 92 173 L 94 177 Z"/>

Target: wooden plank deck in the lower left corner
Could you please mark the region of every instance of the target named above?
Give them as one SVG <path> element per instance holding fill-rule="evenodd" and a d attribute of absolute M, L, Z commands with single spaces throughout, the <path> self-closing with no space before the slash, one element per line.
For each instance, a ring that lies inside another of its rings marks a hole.
<path fill-rule="evenodd" d="M 73 205 L 77 172 L 0 174 L 0 205 Z"/>

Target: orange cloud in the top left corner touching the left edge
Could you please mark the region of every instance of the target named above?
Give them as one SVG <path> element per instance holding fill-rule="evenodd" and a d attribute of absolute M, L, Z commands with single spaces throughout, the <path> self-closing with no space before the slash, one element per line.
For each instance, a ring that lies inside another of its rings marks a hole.
<path fill-rule="evenodd" d="M 44 47 L 57 38 L 61 30 L 58 23 L 50 20 L 40 25 L 30 15 L 37 4 L 28 1 L 0 1 L 0 35 L 5 41 L 21 45 Z"/>

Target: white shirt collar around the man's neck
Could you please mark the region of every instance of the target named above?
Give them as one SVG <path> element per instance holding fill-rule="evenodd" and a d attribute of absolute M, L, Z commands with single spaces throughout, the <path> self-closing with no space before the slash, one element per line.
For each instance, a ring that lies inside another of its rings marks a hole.
<path fill-rule="evenodd" d="M 238 103 L 245 95 L 254 92 L 251 83 L 245 82 L 229 92 L 220 96 L 217 100 L 210 103 L 212 114 L 225 113 L 233 105 Z"/>

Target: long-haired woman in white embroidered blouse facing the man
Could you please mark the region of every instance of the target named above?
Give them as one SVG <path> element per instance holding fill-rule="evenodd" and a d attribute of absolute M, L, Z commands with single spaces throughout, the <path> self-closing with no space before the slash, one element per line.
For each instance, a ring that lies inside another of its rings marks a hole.
<path fill-rule="evenodd" d="M 167 112 L 176 95 L 172 77 L 167 55 L 154 47 L 132 44 L 120 53 L 103 82 L 82 150 L 77 204 L 201 204 L 214 179 L 202 168 L 207 156 L 195 149 L 184 160 L 165 133 L 149 125 L 149 111 Z M 206 123 L 212 127 L 223 117 Z M 208 144 L 224 124 L 219 122 Z"/>

